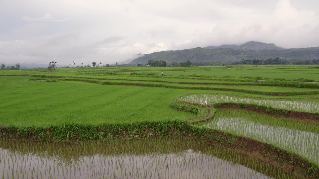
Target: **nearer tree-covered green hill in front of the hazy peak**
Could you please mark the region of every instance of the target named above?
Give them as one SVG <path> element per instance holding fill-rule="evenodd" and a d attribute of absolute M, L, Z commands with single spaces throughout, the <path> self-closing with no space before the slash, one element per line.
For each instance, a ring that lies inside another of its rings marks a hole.
<path fill-rule="evenodd" d="M 262 59 L 269 59 L 270 57 L 276 58 L 280 57 L 281 59 L 286 59 L 288 61 L 271 61 L 270 63 L 265 63 L 266 61 Z M 193 65 L 197 63 L 201 66 L 209 65 L 223 65 L 231 64 L 230 61 L 239 61 L 241 59 L 259 59 L 260 61 L 254 61 L 255 64 L 296 64 L 296 65 L 318 65 L 319 59 L 319 48 L 309 48 L 309 49 L 265 49 L 265 50 L 256 50 L 256 49 L 237 49 L 237 48 L 214 48 L 206 49 L 201 47 L 196 47 L 193 49 L 184 49 L 184 50 L 169 50 L 154 52 L 151 54 L 145 54 L 142 57 L 139 57 L 133 60 L 132 64 L 137 63 L 147 63 L 149 60 L 163 60 L 167 63 L 172 62 L 185 62 L 187 60 L 192 61 Z M 299 60 L 301 59 L 301 60 Z M 313 60 L 315 59 L 315 60 Z M 285 63 L 282 63 L 285 62 Z M 240 63 L 239 63 L 240 64 Z M 252 64 L 252 63 L 249 63 Z"/>

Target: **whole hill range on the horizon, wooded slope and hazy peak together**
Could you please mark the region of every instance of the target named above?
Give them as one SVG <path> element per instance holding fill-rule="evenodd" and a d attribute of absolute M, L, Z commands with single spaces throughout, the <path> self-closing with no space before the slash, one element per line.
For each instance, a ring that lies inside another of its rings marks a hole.
<path fill-rule="evenodd" d="M 187 60 L 196 62 L 212 62 L 212 61 L 236 61 L 245 59 L 319 59 L 319 47 L 310 48 L 290 48 L 285 49 L 277 47 L 274 44 L 250 41 L 242 45 L 221 45 L 196 47 L 184 50 L 169 50 L 144 54 L 133 61 L 131 64 L 147 63 L 148 60 L 164 60 L 167 63 L 173 61 L 185 62 Z"/>

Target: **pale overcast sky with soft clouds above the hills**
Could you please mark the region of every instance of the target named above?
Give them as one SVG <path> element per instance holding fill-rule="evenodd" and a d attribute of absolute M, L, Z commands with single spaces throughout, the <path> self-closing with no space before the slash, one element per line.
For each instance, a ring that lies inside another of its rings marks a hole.
<path fill-rule="evenodd" d="M 319 46 L 318 0 L 0 0 L 0 63 L 112 64 L 255 40 Z"/>

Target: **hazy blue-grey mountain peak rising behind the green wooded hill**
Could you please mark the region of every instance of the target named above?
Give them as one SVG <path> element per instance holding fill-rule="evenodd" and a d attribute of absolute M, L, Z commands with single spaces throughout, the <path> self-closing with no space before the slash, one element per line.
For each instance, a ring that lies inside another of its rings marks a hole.
<path fill-rule="evenodd" d="M 245 49 L 245 50 L 284 50 L 284 48 L 277 47 L 275 44 L 266 44 L 263 42 L 250 41 L 241 45 L 221 45 L 221 46 L 208 46 L 206 49 L 216 48 L 234 48 L 234 49 Z"/>

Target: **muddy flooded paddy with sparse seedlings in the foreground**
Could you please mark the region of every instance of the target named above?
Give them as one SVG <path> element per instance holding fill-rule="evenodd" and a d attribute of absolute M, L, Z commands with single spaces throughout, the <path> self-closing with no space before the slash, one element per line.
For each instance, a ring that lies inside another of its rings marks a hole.
<path fill-rule="evenodd" d="M 291 178 L 239 154 L 186 139 L 47 143 L 0 140 L 2 178 Z"/>

